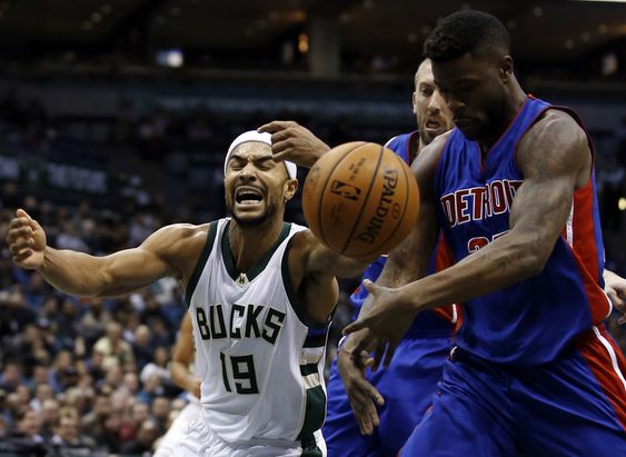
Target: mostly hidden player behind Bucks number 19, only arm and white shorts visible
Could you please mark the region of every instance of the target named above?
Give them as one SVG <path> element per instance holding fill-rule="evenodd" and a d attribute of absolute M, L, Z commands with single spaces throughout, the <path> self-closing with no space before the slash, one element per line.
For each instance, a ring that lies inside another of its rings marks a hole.
<path fill-rule="evenodd" d="M 200 384 L 201 379 L 190 369 L 193 364 L 196 349 L 193 348 L 193 325 L 191 315 L 187 312 L 180 324 L 180 331 L 170 365 L 171 380 L 181 389 L 187 390 L 187 405 L 176 417 L 167 434 L 159 441 L 155 451 L 155 457 L 168 457 L 172 455 L 173 446 L 182 439 L 191 421 L 199 418 L 202 414 L 200 406 Z"/>

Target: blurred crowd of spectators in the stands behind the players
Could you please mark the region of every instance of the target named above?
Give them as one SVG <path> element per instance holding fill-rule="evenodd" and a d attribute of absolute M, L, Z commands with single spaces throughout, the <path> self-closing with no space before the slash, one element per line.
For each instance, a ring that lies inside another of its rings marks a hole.
<path fill-rule="evenodd" d="M 70 125 L 59 126 L 37 103 L 4 100 L 2 107 L 2 147 L 20 147 L 46 157 L 56 139 L 71 137 Z M 181 118 L 166 110 L 135 116 L 128 107 L 112 122 L 117 127 L 110 132 L 115 135 L 105 142 L 130 145 L 129 153 L 141 163 L 155 157 L 163 159 L 172 145 L 183 152 L 223 151 L 235 135 L 231 130 L 238 133 L 267 120 L 257 115 L 258 119 L 239 120 L 227 129 L 207 111 L 188 116 Z M 315 126 L 311 129 L 316 131 Z M 74 141 L 80 140 L 76 131 L 72 135 Z M 338 122 L 322 129 L 320 137 L 336 145 L 362 135 L 350 130 L 349 123 Z M 368 135 L 376 137 L 380 131 L 374 129 Z M 626 130 L 617 135 L 624 149 L 607 156 L 608 166 L 598 172 L 603 222 L 609 238 L 620 237 L 623 212 L 616 212 L 616 208 L 626 193 Z M 93 142 L 89 138 L 80 141 Z M 217 163 L 213 177 L 219 181 L 220 161 Z M 50 246 L 93 255 L 138 246 L 149 234 L 173 221 L 203 221 L 201 213 L 170 211 L 158 197 L 159 189 L 149 188 L 138 177 L 112 181 L 119 196 L 105 203 L 76 193 L 56 200 L 36 186 L 24 186 L 23 179 L 0 185 L 2 239 L 18 207 L 41 223 Z M 219 187 L 212 192 L 209 198 L 222 200 Z M 216 209 L 218 217 L 222 215 L 219 211 Z M 183 216 L 190 218 L 181 219 Z M 287 219 L 302 221 L 296 212 L 288 213 Z M 4 244 L 0 249 L 0 454 L 150 455 L 188 401 L 168 371 L 186 312 L 179 285 L 163 279 L 126 297 L 79 299 L 54 291 L 37 272 L 16 268 Z M 622 251 L 607 250 L 610 267 L 624 276 L 623 256 Z M 354 280 L 341 282 L 328 360 L 335 356 L 340 329 L 350 318 L 346 298 L 354 287 Z M 609 320 L 609 329 L 626 351 L 626 330 L 617 326 L 616 318 Z"/>

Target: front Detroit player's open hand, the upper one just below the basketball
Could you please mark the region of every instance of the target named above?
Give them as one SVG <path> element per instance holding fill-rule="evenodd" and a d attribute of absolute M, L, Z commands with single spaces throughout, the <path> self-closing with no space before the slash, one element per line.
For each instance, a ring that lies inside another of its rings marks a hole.
<path fill-rule="evenodd" d="M 344 335 L 362 330 L 362 338 L 352 349 L 351 354 L 361 354 L 364 350 L 374 350 L 372 369 L 378 369 L 380 361 L 389 366 L 394 352 L 403 336 L 415 318 L 416 310 L 410 302 L 403 300 L 399 289 L 377 286 L 369 280 L 364 286 L 374 297 L 374 305 L 369 314 L 346 328 Z"/>

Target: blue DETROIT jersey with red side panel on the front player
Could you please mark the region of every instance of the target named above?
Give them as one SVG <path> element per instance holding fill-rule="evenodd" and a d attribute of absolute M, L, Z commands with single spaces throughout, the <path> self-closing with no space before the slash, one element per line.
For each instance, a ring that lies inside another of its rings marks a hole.
<path fill-rule="evenodd" d="M 436 172 L 438 218 L 458 261 L 509 230 L 515 192 L 524 182 L 516 162 L 521 137 L 552 107 L 530 96 L 481 159 L 479 146 L 454 129 Z M 593 147 L 589 141 L 593 155 Z M 549 153 L 547 151 L 546 153 Z M 537 365 L 555 359 L 577 335 L 605 319 L 604 247 L 594 172 L 575 191 L 569 219 L 544 269 L 521 282 L 463 304 L 458 345 L 496 362 Z"/>

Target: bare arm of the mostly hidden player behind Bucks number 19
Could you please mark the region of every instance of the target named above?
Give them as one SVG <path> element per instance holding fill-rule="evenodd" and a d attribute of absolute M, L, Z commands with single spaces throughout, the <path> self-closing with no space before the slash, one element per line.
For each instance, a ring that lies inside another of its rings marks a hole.
<path fill-rule="evenodd" d="M 191 315 L 187 312 L 180 324 L 180 334 L 173 347 L 173 356 L 169 371 L 173 384 L 200 398 L 201 380 L 189 370 L 189 366 L 193 362 L 195 356 L 193 327 L 191 324 Z"/>

